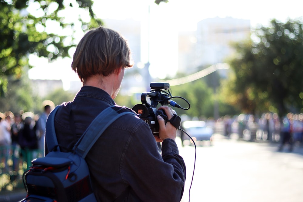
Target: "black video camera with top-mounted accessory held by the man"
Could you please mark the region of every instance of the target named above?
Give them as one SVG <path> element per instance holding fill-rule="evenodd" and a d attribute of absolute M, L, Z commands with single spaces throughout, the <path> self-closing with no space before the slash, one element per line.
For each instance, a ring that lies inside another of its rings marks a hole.
<path fill-rule="evenodd" d="M 169 91 L 169 83 L 151 83 L 151 91 L 143 92 L 141 94 L 142 104 L 136 104 L 133 106 L 134 110 L 139 118 L 148 123 L 152 133 L 158 135 L 159 133 L 159 124 L 157 116 L 160 115 L 167 122 L 167 116 L 164 111 L 158 110 L 157 105 L 160 103 L 162 105 L 170 104 L 173 107 L 181 108 L 176 102 L 170 100 L 173 98 Z M 150 99 L 148 102 L 147 98 Z"/>

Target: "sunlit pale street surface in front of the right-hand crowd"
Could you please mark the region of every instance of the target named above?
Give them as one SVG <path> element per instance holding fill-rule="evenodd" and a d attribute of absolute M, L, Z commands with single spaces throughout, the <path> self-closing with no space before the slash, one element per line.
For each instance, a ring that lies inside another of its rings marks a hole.
<path fill-rule="evenodd" d="M 179 140 L 177 140 L 178 143 Z M 180 145 L 180 146 L 179 146 Z M 195 147 L 178 144 L 187 167 L 182 202 L 189 201 Z M 303 147 L 278 152 L 278 144 L 224 139 L 197 146 L 190 201 L 302 202 Z"/>

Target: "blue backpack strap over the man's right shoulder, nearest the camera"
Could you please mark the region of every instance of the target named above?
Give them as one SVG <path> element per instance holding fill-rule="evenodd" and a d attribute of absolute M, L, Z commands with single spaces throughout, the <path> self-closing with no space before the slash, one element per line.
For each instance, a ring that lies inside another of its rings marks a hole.
<path fill-rule="evenodd" d="M 103 110 L 88 126 L 86 131 L 75 144 L 73 151 L 82 158 L 85 158 L 88 151 L 92 148 L 105 129 L 112 124 L 117 118 L 135 113 L 126 107 L 110 106 Z"/>

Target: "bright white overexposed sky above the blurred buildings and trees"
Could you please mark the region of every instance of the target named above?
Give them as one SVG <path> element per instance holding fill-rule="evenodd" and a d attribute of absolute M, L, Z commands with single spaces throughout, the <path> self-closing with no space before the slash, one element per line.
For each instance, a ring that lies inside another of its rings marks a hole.
<path fill-rule="evenodd" d="M 69 1 L 72 0 L 65 0 Z M 257 24 L 267 25 L 272 18 L 285 21 L 287 18 L 301 17 L 302 7 L 302 0 L 169 0 L 160 5 L 156 5 L 154 0 L 96 0 L 94 12 L 101 19 L 131 18 L 141 21 L 142 62 L 147 62 L 149 58 L 151 76 L 163 78 L 165 75 L 173 76 L 177 71 L 178 31 L 195 31 L 197 22 L 216 16 L 249 19 L 252 27 Z M 68 89 L 69 81 L 79 80 L 71 70 L 71 62 L 72 59 L 65 58 L 48 64 L 46 60 L 31 56 L 30 63 L 35 67 L 29 71 L 29 77 L 62 79 L 64 88 Z"/>

